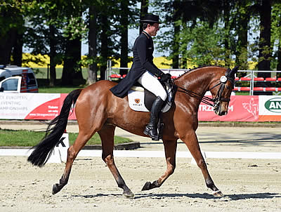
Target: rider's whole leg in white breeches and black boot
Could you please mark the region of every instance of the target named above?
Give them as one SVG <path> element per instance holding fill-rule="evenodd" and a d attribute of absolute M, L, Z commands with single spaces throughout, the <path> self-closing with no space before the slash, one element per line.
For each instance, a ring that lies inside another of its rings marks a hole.
<path fill-rule="evenodd" d="M 151 107 L 150 123 L 145 127 L 145 131 L 143 133 L 145 133 L 145 135 L 149 135 L 152 140 L 158 140 L 157 123 L 159 113 L 161 112 L 163 103 L 167 97 L 166 91 L 162 84 L 158 81 L 157 77 L 150 72 L 145 72 L 138 79 L 138 83 L 157 96 Z"/>

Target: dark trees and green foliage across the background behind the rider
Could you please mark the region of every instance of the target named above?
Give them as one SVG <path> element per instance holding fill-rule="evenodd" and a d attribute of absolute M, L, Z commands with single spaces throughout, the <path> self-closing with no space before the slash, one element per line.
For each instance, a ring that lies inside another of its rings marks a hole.
<path fill-rule="evenodd" d="M 48 55 L 50 86 L 84 84 L 81 65 L 89 67 L 91 84 L 105 78 L 108 59 L 128 66 L 129 29 L 138 30 L 147 11 L 162 20 L 156 51 L 173 68 L 216 64 L 249 69 L 249 62 L 256 62 L 255 69 L 281 69 L 280 0 L 4 0 L 0 64 L 43 65 L 39 54 Z M 83 59 L 81 41 L 89 43 Z M 22 58 L 22 48 L 33 56 Z M 60 81 L 57 65 L 63 66 Z"/>

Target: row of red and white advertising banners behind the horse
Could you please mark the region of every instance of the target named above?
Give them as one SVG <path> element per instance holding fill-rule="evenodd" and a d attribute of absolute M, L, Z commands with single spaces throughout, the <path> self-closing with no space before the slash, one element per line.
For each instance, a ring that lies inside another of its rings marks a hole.
<path fill-rule="evenodd" d="M 54 119 L 66 93 L 0 93 L 0 119 Z M 281 121 L 281 98 L 268 95 L 232 95 L 228 114 L 218 116 L 213 107 L 200 104 L 199 121 Z M 131 110 L 131 109 L 130 109 Z M 69 119 L 76 119 L 74 109 Z"/>

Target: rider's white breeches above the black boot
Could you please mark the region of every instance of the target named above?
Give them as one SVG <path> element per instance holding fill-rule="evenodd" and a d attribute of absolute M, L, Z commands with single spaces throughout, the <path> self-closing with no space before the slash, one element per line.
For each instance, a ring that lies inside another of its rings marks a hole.
<path fill-rule="evenodd" d="M 156 96 L 162 98 L 163 101 L 166 100 L 167 94 L 165 89 L 157 77 L 150 72 L 146 71 L 143 75 L 141 75 L 141 77 L 138 78 L 138 83 L 148 89 L 151 93 L 154 93 Z"/>

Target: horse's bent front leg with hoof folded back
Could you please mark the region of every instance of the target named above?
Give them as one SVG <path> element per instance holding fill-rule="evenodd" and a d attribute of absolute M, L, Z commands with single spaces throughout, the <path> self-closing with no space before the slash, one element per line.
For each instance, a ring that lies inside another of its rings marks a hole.
<path fill-rule="evenodd" d="M 165 157 L 166 157 L 166 164 L 167 168 L 164 173 L 158 180 L 155 180 L 153 183 L 146 182 L 143 186 L 142 191 L 144 190 L 151 190 L 155 187 L 160 187 L 164 181 L 169 178 L 169 175 L 174 173 L 176 168 L 176 140 L 163 140 L 164 143 L 164 150 L 165 150 Z"/>

